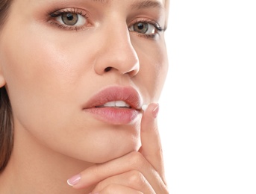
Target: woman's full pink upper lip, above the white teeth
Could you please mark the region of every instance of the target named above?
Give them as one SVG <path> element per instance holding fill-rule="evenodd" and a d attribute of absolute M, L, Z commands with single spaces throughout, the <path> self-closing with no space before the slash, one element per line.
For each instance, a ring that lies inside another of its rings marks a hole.
<path fill-rule="evenodd" d="M 125 101 L 136 110 L 140 110 L 142 107 L 142 98 L 134 87 L 107 87 L 90 98 L 84 109 L 100 107 L 109 101 Z"/>

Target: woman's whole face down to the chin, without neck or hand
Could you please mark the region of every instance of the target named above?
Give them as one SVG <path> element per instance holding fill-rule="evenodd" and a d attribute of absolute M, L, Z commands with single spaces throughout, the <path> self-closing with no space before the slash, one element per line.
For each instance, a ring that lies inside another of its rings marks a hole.
<path fill-rule="evenodd" d="M 165 19 L 165 0 L 14 0 L 0 83 L 15 130 L 93 163 L 136 151 L 166 77 Z"/>

